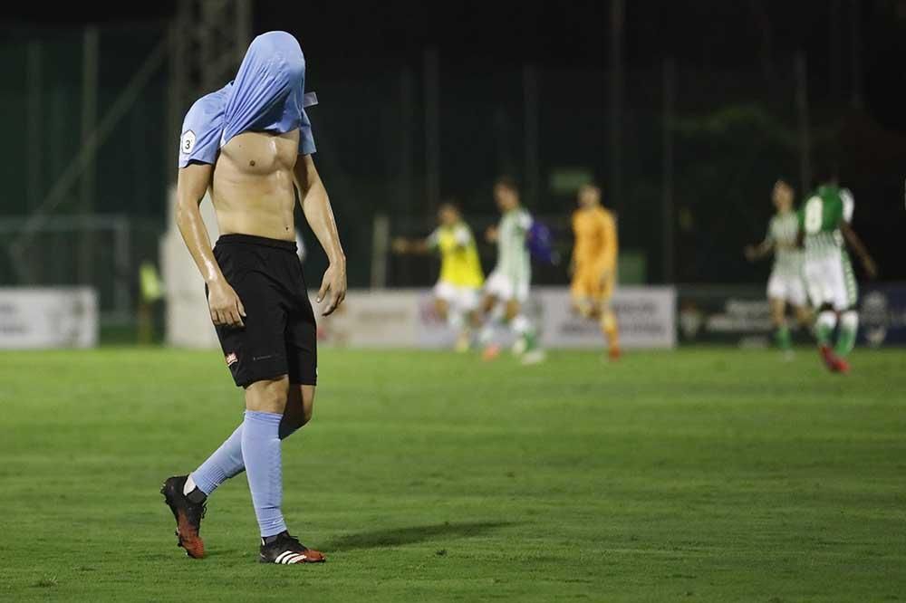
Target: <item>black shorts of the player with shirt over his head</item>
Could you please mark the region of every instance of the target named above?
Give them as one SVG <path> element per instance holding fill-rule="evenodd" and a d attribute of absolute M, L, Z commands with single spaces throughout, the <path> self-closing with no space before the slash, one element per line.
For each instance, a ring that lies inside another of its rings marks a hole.
<path fill-rule="evenodd" d="M 315 385 L 317 325 L 295 243 L 223 235 L 214 257 L 246 309 L 245 327 L 216 327 L 236 385 L 283 375 L 291 383 Z"/>

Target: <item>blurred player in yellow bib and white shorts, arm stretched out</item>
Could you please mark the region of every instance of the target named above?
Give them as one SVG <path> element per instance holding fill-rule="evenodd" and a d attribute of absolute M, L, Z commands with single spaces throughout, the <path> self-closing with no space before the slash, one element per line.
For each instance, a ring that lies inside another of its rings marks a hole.
<path fill-rule="evenodd" d="M 478 302 L 485 275 L 478 260 L 472 230 L 462 219 L 458 206 L 447 202 L 438 211 L 438 227 L 428 238 L 393 241 L 397 254 L 440 254 L 440 276 L 434 285 L 434 308 L 441 320 L 458 332 L 457 351 L 466 351 L 472 328 L 480 326 Z"/>

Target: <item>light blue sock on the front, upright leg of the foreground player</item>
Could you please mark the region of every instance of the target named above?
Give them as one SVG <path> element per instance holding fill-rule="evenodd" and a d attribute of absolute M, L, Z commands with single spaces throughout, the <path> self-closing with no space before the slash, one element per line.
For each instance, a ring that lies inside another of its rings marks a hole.
<path fill-rule="evenodd" d="M 280 419 L 276 413 L 246 410 L 242 426 L 242 458 L 246 462 L 248 489 L 261 537 L 286 530 L 283 503 L 283 466 L 280 461 Z"/>

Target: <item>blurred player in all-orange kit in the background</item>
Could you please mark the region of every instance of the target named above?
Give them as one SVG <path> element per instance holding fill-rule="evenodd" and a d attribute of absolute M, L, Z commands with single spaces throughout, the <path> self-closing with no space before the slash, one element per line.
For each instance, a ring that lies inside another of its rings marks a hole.
<path fill-rule="evenodd" d="M 581 187 L 578 204 L 573 213 L 573 310 L 599 321 L 610 358 L 615 360 L 620 358 L 620 331 L 611 308 L 619 249 L 616 222 L 601 205 L 598 187 Z"/>

